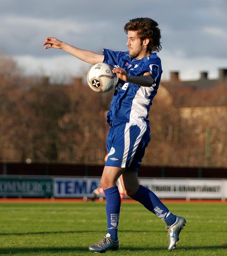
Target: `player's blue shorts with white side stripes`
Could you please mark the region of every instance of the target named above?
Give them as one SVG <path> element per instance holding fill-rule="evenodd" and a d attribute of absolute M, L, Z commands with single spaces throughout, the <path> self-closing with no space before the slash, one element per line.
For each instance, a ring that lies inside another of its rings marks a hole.
<path fill-rule="evenodd" d="M 108 158 L 105 165 L 138 171 L 150 139 L 150 127 L 111 122 L 107 135 Z"/>

